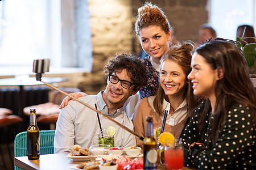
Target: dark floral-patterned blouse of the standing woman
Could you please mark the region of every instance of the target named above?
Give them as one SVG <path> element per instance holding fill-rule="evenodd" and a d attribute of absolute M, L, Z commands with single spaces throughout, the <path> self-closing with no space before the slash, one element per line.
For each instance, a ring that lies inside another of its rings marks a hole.
<path fill-rule="evenodd" d="M 150 56 L 145 57 L 144 65 L 146 66 L 147 73 L 148 73 L 148 82 L 146 86 L 143 86 L 141 90 L 139 90 L 139 94 L 141 99 L 144 97 L 150 96 L 155 94 L 158 90 L 158 80 L 159 80 L 159 71 L 155 70 L 150 62 Z"/>

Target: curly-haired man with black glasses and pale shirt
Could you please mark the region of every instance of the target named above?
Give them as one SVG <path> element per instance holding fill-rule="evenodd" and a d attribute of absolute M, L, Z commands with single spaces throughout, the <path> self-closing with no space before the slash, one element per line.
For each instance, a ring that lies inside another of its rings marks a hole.
<path fill-rule="evenodd" d="M 127 54 L 119 54 L 104 67 L 108 75 L 107 86 L 97 95 L 88 95 L 79 99 L 91 106 L 96 104 L 97 109 L 108 114 L 114 120 L 133 130 L 133 122 L 126 115 L 123 105 L 128 97 L 135 95 L 139 88 L 147 82 L 146 68 L 141 59 Z M 100 116 L 102 129 L 114 126 L 115 147 L 131 147 L 136 145 L 133 134 L 120 128 L 114 122 Z M 71 100 L 62 108 L 56 124 L 55 152 L 70 152 L 73 145 L 80 145 L 83 149 L 95 144 L 93 137 L 100 130 L 97 114 L 78 101 Z"/>

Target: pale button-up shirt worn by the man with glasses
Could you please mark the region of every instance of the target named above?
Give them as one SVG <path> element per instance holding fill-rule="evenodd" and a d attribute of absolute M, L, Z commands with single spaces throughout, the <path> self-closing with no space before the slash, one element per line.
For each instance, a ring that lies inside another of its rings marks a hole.
<path fill-rule="evenodd" d="M 79 99 L 93 107 L 94 104 L 97 104 L 97 109 L 108 115 L 108 107 L 102 97 L 103 92 L 101 91 L 97 95 L 80 97 Z M 127 128 L 134 130 L 133 122 L 126 115 L 123 107 L 108 116 L 125 125 Z M 115 147 L 131 147 L 136 145 L 133 134 L 100 114 L 99 117 L 102 129 L 107 129 L 109 126 L 115 127 Z M 71 151 L 71 147 L 76 144 L 80 145 L 83 149 L 89 148 L 92 145 L 93 137 L 98 133 L 99 129 L 97 113 L 78 101 L 70 100 L 68 105 L 61 109 L 57 120 L 54 139 L 55 153 L 69 152 Z"/>

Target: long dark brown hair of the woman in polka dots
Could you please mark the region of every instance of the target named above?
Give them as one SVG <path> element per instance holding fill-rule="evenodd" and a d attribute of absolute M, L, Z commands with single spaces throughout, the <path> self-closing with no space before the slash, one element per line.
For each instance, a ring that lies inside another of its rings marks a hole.
<path fill-rule="evenodd" d="M 233 105 L 249 107 L 256 122 L 256 93 L 247 72 L 245 57 L 234 42 L 217 38 L 199 46 L 195 52 L 203 56 L 213 70 L 221 68 L 224 73 L 224 78 L 218 80 L 215 86 L 216 104 L 212 133 L 209 135 L 209 141 L 215 143 Z M 198 139 L 204 133 L 205 119 L 210 108 L 210 100 L 207 99 L 200 114 Z M 256 134 L 255 127 L 254 132 Z"/>

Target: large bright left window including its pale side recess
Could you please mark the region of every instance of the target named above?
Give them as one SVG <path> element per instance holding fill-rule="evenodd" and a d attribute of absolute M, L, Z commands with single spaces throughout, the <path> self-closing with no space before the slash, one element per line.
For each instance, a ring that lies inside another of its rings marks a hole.
<path fill-rule="evenodd" d="M 0 1 L 0 66 L 31 67 L 34 59 L 50 58 L 51 66 L 88 67 L 85 70 L 90 71 L 92 48 L 86 54 L 81 52 L 85 45 L 90 47 L 90 36 L 86 37 L 88 40 L 80 38 L 77 41 L 80 44 L 76 44 L 77 29 L 85 27 L 76 19 L 85 10 L 75 12 L 75 2 L 87 3 L 84 0 Z M 90 35 L 88 30 L 79 33 Z"/>

